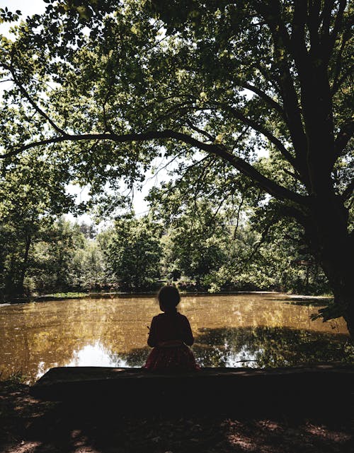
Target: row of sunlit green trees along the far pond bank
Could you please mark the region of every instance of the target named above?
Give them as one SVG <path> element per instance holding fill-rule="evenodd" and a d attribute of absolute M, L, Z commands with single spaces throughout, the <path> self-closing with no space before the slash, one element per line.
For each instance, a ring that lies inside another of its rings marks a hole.
<path fill-rule="evenodd" d="M 0 241 L 2 300 L 62 291 L 142 292 L 161 281 L 210 292 L 329 292 L 324 273 L 299 247 L 295 223 L 261 232 L 205 202 L 173 222 L 127 215 L 99 233 L 94 225 L 43 216 L 32 231 L 2 224 Z"/>

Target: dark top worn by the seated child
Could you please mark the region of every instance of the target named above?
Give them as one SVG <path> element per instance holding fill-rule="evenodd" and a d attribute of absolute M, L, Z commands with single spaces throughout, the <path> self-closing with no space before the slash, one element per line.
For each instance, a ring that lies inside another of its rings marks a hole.
<path fill-rule="evenodd" d="M 181 313 L 160 313 L 152 318 L 147 344 L 154 348 L 164 341 L 183 341 L 192 346 L 194 338 L 188 319 Z"/>

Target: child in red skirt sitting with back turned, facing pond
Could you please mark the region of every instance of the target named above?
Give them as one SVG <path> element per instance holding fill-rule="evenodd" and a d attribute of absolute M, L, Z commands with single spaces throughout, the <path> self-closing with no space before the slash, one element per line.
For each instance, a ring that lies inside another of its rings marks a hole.
<path fill-rule="evenodd" d="M 189 321 L 177 312 L 181 300 L 178 289 L 163 286 L 157 298 L 163 313 L 152 318 L 147 344 L 153 350 L 144 368 L 150 371 L 200 370 L 188 348 L 194 343 Z"/>

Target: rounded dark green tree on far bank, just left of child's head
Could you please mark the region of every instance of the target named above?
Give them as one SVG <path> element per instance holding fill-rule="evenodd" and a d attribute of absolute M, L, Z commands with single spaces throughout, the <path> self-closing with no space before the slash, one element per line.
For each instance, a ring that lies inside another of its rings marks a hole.
<path fill-rule="evenodd" d="M 147 217 L 116 220 L 105 256 L 121 288 L 147 289 L 159 278 L 159 235 L 159 225 Z"/>

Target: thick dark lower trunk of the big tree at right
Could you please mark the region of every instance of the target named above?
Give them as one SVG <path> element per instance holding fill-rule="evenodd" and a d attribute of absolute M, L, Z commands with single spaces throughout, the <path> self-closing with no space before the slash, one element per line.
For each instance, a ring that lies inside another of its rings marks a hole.
<path fill-rule="evenodd" d="M 347 228 L 348 210 L 338 196 L 314 201 L 305 227 L 309 245 L 333 290 L 334 303 L 346 320 L 354 339 L 354 247 Z"/>

